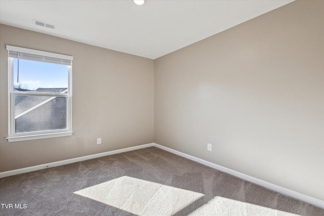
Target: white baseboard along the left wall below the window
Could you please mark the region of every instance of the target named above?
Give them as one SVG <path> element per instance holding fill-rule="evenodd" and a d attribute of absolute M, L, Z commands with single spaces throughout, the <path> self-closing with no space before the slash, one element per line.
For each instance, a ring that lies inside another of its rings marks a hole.
<path fill-rule="evenodd" d="M 98 153 L 98 154 L 92 154 L 92 155 L 87 155 L 87 156 L 83 156 L 83 157 L 76 157 L 76 158 L 56 161 L 56 162 L 52 162 L 52 163 L 45 163 L 45 164 L 36 165 L 36 166 L 29 166 L 29 167 L 21 168 L 21 169 L 14 169 L 14 170 L 10 170 L 10 171 L 0 172 L 0 178 L 14 176 L 14 175 L 23 174 L 26 172 L 31 172 L 31 171 L 41 170 L 41 169 L 46 169 L 49 167 L 61 166 L 61 165 L 69 164 L 69 163 L 90 160 L 90 159 L 104 157 L 104 156 L 108 156 L 108 155 L 112 155 L 112 154 L 118 154 L 118 153 L 133 151 L 133 150 L 137 150 L 137 149 L 143 149 L 143 148 L 147 148 L 147 147 L 151 147 L 151 146 L 154 146 L 154 143 L 129 147 L 129 148 L 125 148 L 125 149 L 118 149 L 118 150 L 108 151 L 108 152 L 103 152 L 103 153 Z"/>

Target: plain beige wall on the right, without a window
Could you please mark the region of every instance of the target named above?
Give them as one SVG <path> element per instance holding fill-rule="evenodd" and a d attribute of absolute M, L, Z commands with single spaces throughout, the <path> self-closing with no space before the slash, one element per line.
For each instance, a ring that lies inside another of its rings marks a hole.
<path fill-rule="evenodd" d="M 324 200 L 323 10 L 293 2 L 156 59 L 154 142 Z"/>

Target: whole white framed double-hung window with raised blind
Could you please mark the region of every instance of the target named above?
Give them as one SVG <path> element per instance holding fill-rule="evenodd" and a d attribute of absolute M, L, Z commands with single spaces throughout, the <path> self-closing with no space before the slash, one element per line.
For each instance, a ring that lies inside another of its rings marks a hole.
<path fill-rule="evenodd" d="M 72 56 L 7 45 L 9 142 L 72 135 Z"/>

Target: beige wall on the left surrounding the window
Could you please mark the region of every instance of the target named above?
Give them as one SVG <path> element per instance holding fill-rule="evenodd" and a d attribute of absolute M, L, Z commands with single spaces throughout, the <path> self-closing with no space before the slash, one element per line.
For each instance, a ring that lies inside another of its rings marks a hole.
<path fill-rule="evenodd" d="M 18 169 L 153 140 L 153 60 L 0 25 L 0 171 Z M 6 45 L 71 55 L 73 136 L 8 143 Z M 102 144 L 97 145 L 97 138 Z"/>

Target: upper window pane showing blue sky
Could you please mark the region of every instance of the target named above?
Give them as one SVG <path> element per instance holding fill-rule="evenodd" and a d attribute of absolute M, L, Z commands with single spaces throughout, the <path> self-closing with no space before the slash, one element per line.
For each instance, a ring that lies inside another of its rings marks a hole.
<path fill-rule="evenodd" d="M 19 59 L 18 65 L 18 59 L 14 59 L 14 91 L 66 93 L 68 67 L 25 59 Z"/>

